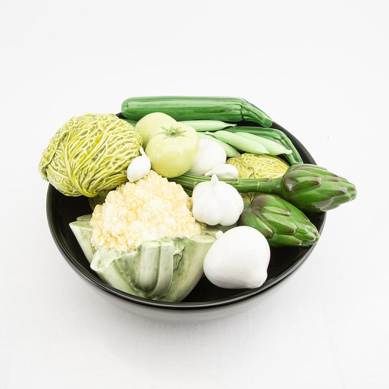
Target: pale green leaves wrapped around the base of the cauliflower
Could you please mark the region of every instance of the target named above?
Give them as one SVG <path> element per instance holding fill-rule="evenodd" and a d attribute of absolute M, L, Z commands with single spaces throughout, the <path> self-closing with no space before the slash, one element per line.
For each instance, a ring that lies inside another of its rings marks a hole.
<path fill-rule="evenodd" d="M 92 270 L 113 288 L 161 301 L 181 301 L 203 275 L 204 257 L 215 238 L 202 233 L 190 238 L 145 241 L 120 252 L 91 244 L 89 220 L 77 220 L 70 228 Z"/>

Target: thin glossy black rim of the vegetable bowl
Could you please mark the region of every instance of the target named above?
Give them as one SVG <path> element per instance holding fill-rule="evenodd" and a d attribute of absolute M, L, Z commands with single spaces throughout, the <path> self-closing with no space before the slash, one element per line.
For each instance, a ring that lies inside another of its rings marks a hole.
<path fill-rule="evenodd" d="M 118 114 L 119 118 L 122 116 L 121 114 Z M 123 116 L 122 116 L 123 117 Z M 312 155 L 308 152 L 308 150 L 302 145 L 302 143 L 295 138 L 289 131 L 278 125 L 277 123 L 273 122 L 272 128 L 276 128 L 282 132 L 284 132 L 292 141 L 294 146 L 298 149 L 300 149 L 305 154 L 305 160 L 304 163 L 314 164 L 316 165 L 316 162 Z M 85 280 L 90 282 L 94 287 L 99 288 L 103 290 L 106 293 L 109 293 L 113 296 L 116 296 L 120 299 L 133 302 L 136 304 L 140 304 L 147 307 L 153 307 L 153 308 L 164 308 L 164 309 L 173 309 L 173 310 L 193 310 L 193 309 L 209 309 L 209 308 L 217 308 L 222 307 L 229 304 L 236 304 L 240 301 L 252 298 L 254 296 L 257 296 L 258 294 L 267 291 L 271 287 L 275 286 L 282 280 L 284 280 L 286 277 L 288 277 L 290 274 L 293 273 L 301 264 L 306 260 L 306 258 L 310 255 L 310 253 L 314 250 L 316 245 L 310 246 L 307 251 L 301 256 L 301 258 L 291 267 L 287 268 L 279 277 L 275 278 L 271 282 L 264 283 L 262 286 L 256 289 L 248 289 L 242 293 L 239 293 L 235 295 L 234 297 L 230 297 L 227 299 L 219 299 L 219 300 L 212 300 L 212 301 L 206 301 L 206 302 L 166 302 L 166 301 L 158 301 L 158 300 L 150 300 L 143 297 L 138 297 L 135 295 L 132 295 L 130 293 L 123 292 L 119 289 L 113 288 L 105 284 L 102 280 L 100 280 L 97 276 L 92 277 L 90 274 L 90 271 L 88 271 L 84 266 L 82 266 L 76 258 L 72 255 L 72 253 L 68 250 L 65 242 L 63 239 L 61 239 L 60 235 L 56 231 L 56 227 L 54 225 L 53 218 L 51 217 L 52 212 L 52 195 L 53 191 L 56 189 L 49 184 L 48 190 L 47 190 L 47 196 L 46 196 L 46 214 L 47 214 L 47 220 L 49 224 L 49 229 L 51 232 L 51 235 L 53 237 L 53 240 L 62 254 L 62 256 L 65 258 L 67 263 L 73 268 L 73 270 L 76 271 L 77 274 L 79 274 L 81 277 L 83 277 Z M 322 212 L 322 220 L 320 222 L 318 231 L 319 234 L 321 234 L 325 219 L 326 219 L 326 212 Z"/>

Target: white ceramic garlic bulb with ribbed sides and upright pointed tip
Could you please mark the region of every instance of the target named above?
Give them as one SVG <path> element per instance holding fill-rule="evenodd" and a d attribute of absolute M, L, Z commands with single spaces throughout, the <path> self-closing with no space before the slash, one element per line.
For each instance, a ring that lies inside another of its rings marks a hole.
<path fill-rule="evenodd" d="M 201 182 L 193 189 L 193 216 L 209 225 L 232 225 L 243 211 L 243 200 L 237 189 L 219 181 L 214 174 L 210 181 Z"/>

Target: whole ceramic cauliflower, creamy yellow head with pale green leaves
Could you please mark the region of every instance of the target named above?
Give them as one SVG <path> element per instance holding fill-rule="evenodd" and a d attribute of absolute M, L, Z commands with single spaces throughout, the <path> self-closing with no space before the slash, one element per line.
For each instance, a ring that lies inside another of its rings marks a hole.
<path fill-rule="evenodd" d="M 183 189 L 153 171 L 109 192 L 92 218 L 70 223 L 91 268 L 140 297 L 181 301 L 203 275 L 215 241 L 190 212 Z"/>

